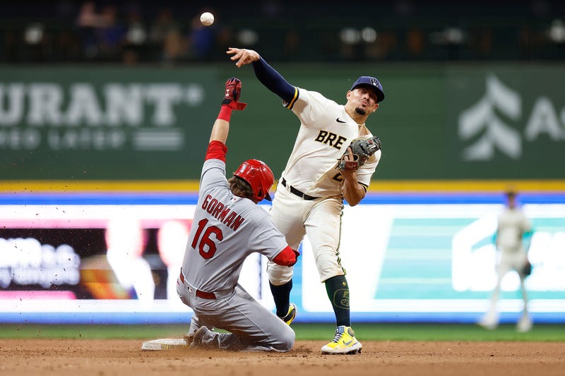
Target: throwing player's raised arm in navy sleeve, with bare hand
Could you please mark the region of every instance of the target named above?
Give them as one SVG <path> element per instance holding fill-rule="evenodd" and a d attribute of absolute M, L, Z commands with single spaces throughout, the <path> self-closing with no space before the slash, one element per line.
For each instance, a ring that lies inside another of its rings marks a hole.
<path fill-rule="evenodd" d="M 296 97 L 297 88 L 287 83 L 287 80 L 261 58 L 256 51 L 230 47 L 226 53 L 233 55 L 230 59 L 236 61 L 235 66 L 237 68 L 252 63 L 253 71 L 258 80 L 285 102 L 291 103 L 292 99 Z"/>

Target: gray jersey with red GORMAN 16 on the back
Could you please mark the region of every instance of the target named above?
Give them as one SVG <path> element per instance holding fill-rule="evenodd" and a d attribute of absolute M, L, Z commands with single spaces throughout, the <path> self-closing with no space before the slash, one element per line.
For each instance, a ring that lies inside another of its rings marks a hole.
<path fill-rule="evenodd" d="M 204 162 L 182 263 L 186 281 L 208 292 L 232 289 L 251 253 L 273 260 L 287 246 L 266 210 L 232 194 L 225 171 L 220 159 Z"/>

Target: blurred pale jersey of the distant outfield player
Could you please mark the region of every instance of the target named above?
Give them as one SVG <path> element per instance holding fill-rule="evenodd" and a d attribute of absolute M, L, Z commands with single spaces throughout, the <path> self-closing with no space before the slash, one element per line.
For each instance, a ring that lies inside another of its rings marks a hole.
<path fill-rule="evenodd" d="M 521 250 L 523 247 L 522 236 L 530 229 L 530 222 L 521 210 L 507 207 L 499 216 L 496 243 L 503 251 Z"/>

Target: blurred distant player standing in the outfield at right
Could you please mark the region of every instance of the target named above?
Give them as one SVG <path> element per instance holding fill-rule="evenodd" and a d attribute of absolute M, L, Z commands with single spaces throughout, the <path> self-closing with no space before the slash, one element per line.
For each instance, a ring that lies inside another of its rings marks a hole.
<path fill-rule="evenodd" d="M 520 288 L 524 301 L 521 319 L 516 325 L 518 332 L 528 332 L 532 328 L 532 320 L 528 314 L 528 296 L 525 291 L 524 267 L 528 264 L 528 247 L 524 246 L 523 238 L 531 236 L 532 226 L 528 218 L 516 205 L 516 193 L 506 193 L 506 208 L 498 219 L 496 229 L 496 249 L 498 263 L 496 265 L 496 286 L 492 291 L 489 312 L 482 317 L 479 325 L 494 329 L 499 325 L 499 315 L 496 304 L 499 301 L 501 281 L 508 272 L 516 270 L 520 276 Z"/>

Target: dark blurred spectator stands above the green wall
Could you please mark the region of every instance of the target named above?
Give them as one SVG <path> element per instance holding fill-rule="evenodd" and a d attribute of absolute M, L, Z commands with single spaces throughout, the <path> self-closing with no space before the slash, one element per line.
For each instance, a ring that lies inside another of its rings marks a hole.
<path fill-rule="evenodd" d="M 203 11 L 216 21 L 205 28 Z M 270 61 L 565 59 L 565 1 L 9 1 L 0 61 L 225 60 L 229 46 Z"/>

